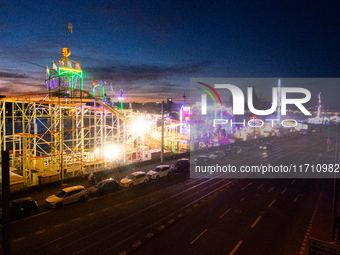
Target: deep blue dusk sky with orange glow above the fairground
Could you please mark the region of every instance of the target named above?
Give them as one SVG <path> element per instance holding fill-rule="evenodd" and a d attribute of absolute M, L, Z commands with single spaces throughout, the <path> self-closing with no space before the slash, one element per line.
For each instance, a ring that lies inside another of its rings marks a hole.
<path fill-rule="evenodd" d="M 85 90 L 105 80 L 136 102 L 183 102 L 190 78 L 339 77 L 339 14 L 338 1 L 0 0 L 0 94 L 46 92 L 65 46 Z M 340 105 L 340 84 L 322 89 Z"/>

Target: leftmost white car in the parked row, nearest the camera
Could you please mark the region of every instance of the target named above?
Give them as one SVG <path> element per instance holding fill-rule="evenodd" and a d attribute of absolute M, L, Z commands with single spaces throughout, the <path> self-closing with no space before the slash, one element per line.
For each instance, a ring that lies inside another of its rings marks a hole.
<path fill-rule="evenodd" d="M 45 203 L 50 208 L 60 209 L 66 204 L 83 202 L 87 199 L 87 190 L 84 186 L 72 186 L 62 189 L 55 195 L 46 198 Z"/>

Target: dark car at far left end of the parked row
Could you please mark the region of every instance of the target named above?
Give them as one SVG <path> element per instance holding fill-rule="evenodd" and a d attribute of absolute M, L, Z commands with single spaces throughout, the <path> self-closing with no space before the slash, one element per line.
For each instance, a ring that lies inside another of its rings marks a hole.
<path fill-rule="evenodd" d="M 31 197 L 24 197 L 10 202 L 11 220 L 22 219 L 38 212 L 38 203 Z"/>

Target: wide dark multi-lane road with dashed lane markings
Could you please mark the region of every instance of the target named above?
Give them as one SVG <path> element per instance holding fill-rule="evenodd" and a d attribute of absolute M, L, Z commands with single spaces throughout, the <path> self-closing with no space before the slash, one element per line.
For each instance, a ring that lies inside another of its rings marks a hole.
<path fill-rule="evenodd" d="M 325 140 L 296 137 L 219 163 L 323 163 Z M 332 180 L 277 175 L 182 174 L 46 211 L 11 223 L 12 254 L 298 254 Z"/>

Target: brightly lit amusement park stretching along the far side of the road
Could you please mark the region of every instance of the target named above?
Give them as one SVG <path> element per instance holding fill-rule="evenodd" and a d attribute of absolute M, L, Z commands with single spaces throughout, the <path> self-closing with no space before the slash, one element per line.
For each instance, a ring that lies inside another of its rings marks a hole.
<path fill-rule="evenodd" d="M 307 132 L 308 124 L 332 121 L 320 117 L 320 93 L 316 117 L 304 122 L 294 120 L 292 111 L 282 120 L 280 101 L 277 116 L 269 121 L 246 113 L 248 125 L 245 119 L 235 119 L 232 107 L 222 102 L 219 107 L 208 106 L 204 118 L 197 118 L 202 108 L 198 102 L 191 109 L 182 105 L 177 118 L 165 116 L 163 103 L 159 112 L 134 110 L 131 101 L 124 107 L 123 89 L 116 94 L 112 83 L 92 79 L 92 91 L 84 90 L 80 63 L 69 58 L 68 48 L 61 53 L 59 61 L 47 66 L 46 93 L 0 100 L 0 149 L 10 153 L 11 191 L 122 165 L 162 161 L 190 150 L 290 136 Z M 279 94 L 280 80 L 278 88 Z"/>

